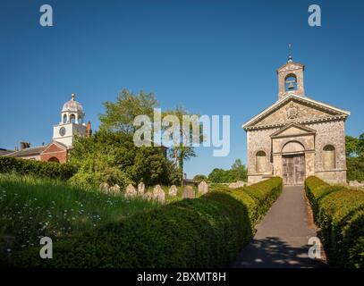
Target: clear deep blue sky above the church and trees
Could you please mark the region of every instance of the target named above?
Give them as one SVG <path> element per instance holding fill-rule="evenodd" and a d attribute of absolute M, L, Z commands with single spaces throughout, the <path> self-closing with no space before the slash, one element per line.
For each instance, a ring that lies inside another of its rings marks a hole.
<path fill-rule="evenodd" d="M 55 26 L 38 23 L 51 4 Z M 308 25 L 320 4 L 322 27 Z M 71 93 L 97 129 L 102 103 L 122 88 L 153 92 L 162 108 L 231 115 L 231 152 L 198 148 L 189 177 L 246 161 L 241 124 L 277 99 L 275 69 L 304 63 L 309 97 L 351 111 L 363 128 L 360 1 L 4 1 L 0 2 L 0 147 L 49 142 Z"/>

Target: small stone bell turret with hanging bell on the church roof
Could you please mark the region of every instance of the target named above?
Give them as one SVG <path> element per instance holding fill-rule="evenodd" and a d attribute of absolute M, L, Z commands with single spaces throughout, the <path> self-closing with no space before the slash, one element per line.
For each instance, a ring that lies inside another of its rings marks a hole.
<path fill-rule="evenodd" d="M 288 62 L 281 66 L 276 72 L 278 75 L 278 100 L 290 94 L 304 97 L 305 87 L 303 84 L 303 71 L 305 66 L 302 63 L 294 63 L 290 45 Z"/>

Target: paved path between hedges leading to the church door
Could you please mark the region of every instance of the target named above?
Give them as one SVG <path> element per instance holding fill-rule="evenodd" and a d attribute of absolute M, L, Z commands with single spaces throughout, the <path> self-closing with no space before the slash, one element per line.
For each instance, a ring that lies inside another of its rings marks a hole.
<path fill-rule="evenodd" d="M 310 237 L 317 236 L 301 186 L 284 187 L 282 195 L 258 224 L 257 233 L 232 267 L 319 267 L 309 258 Z"/>

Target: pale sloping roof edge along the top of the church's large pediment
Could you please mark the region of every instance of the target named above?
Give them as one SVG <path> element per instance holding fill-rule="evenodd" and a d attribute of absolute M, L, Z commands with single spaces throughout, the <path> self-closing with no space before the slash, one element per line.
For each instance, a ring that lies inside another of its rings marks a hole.
<path fill-rule="evenodd" d="M 250 121 L 245 122 L 244 124 L 242 124 L 242 128 L 246 129 L 248 127 L 250 127 L 249 125 L 253 124 L 254 122 L 257 122 L 259 119 L 261 119 L 262 117 L 264 117 L 265 115 L 269 114 L 270 112 L 274 111 L 276 108 L 278 108 L 280 105 L 284 105 L 284 103 L 286 101 L 289 101 L 290 99 L 295 98 L 298 99 L 300 101 L 303 102 L 308 102 L 310 104 L 313 105 L 318 105 L 320 107 L 326 108 L 326 109 L 330 109 L 333 110 L 339 114 L 343 114 L 345 117 L 350 115 L 349 111 L 334 107 L 333 105 L 327 105 L 326 103 L 317 101 L 315 99 L 309 98 L 309 97 L 301 97 L 299 95 L 295 95 L 295 94 L 290 94 L 286 97 L 282 97 L 281 99 L 279 99 L 278 101 L 275 102 L 275 104 L 270 105 L 269 107 L 267 107 L 265 110 L 263 110 L 261 113 L 259 113 L 258 115 L 254 116 L 253 118 L 250 119 Z"/>

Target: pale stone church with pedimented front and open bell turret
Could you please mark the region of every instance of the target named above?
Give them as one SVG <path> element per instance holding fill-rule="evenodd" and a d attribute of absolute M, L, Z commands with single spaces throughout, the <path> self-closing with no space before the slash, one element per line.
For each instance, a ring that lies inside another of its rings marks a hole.
<path fill-rule="evenodd" d="M 304 70 L 290 55 L 276 71 L 277 101 L 242 125 L 249 183 L 280 176 L 286 185 L 299 185 L 312 175 L 346 183 L 344 122 L 350 112 L 307 97 Z"/>

